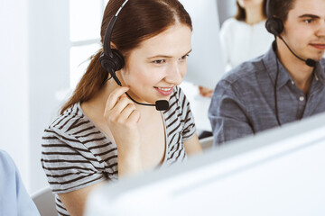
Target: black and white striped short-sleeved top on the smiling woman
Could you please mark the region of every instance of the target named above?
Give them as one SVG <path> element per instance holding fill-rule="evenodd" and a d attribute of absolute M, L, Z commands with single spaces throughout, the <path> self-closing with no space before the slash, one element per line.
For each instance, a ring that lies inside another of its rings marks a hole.
<path fill-rule="evenodd" d="M 162 166 L 171 166 L 187 158 L 183 141 L 196 131 L 190 103 L 180 87 L 175 88 L 170 108 L 162 115 L 166 131 Z M 60 202 L 58 193 L 68 193 L 103 180 L 117 180 L 116 143 L 88 119 L 79 103 L 44 130 L 41 161 L 55 193 L 59 215 L 70 214 Z"/>

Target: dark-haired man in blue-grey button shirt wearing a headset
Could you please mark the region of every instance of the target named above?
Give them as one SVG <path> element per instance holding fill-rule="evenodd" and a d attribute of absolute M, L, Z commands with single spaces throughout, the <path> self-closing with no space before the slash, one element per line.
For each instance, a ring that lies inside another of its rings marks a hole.
<path fill-rule="evenodd" d="M 325 1 L 269 0 L 267 8 L 273 45 L 214 90 L 215 146 L 325 111 Z"/>

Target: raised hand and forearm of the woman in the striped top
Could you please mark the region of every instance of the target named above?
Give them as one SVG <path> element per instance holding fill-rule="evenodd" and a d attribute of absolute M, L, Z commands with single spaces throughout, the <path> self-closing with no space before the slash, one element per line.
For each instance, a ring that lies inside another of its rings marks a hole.
<path fill-rule="evenodd" d="M 130 175 L 142 170 L 140 112 L 125 94 L 126 86 L 118 86 L 107 99 L 104 118 L 107 120 L 117 146 L 118 175 Z"/>

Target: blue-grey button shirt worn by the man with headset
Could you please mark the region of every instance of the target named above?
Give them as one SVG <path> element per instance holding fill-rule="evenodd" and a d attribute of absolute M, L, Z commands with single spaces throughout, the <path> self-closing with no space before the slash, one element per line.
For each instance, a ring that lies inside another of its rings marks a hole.
<path fill-rule="evenodd" d="M 281 124 L 301 120 L 325 111 L 325 59 L 314 69 L 307 95 L 279 61 L 276 86 Z M 230 71 L 216 86 L 209 106 L 214 145 L 278 127 L 274 105 L 276 76 L 274 50 Z"/>

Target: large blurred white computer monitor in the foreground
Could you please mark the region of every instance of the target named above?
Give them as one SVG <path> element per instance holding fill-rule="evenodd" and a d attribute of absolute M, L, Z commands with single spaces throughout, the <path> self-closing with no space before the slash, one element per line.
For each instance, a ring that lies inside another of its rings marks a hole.
<path fill-rule="evenodd" d="M 97 215 L 324 215 L 325 113 L 91 193 Z"/>

